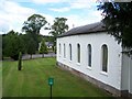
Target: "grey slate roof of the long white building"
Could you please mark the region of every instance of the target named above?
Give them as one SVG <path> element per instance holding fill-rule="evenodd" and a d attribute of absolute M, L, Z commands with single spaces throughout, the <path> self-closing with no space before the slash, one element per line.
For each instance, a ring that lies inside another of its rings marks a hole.
<path fill-rule="evenodd" d="M 105 31 L 106 31 L 105 24 L 102 22 L 97 22 L 92 24 L 74 28 L 69 30 L 68 32 L 58 35 L 58 37 L 79 35 L 79 34 L 99 33 L 99 32 L 105 32 Z"/>

